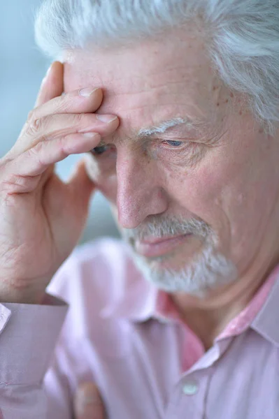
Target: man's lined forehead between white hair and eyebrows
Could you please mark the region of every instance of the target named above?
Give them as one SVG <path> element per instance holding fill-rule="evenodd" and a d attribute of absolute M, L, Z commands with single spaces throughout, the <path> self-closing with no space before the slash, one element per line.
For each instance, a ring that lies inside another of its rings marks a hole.
<path fill-rule="evenodd" d="M 169 31 L 131 46 L 66 52 L 64 64 L 64 91 L 101 87 L 98 112 L 132 119 L 138 122 L 134 128 L 143 121 L 150 126 L 173 117 L 208 117 L 220 93 L 203 41 L 192 31 Z"/>

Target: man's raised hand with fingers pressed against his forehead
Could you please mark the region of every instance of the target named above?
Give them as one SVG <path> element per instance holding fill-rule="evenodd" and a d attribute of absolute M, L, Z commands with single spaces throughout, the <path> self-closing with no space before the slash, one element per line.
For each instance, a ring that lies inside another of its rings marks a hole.
<path fill-rule="evenodd" d="M 90 152 L 119 125 L 115 115 L 105 123 L 92 113 L 103 100 L 101 89 L 87 97 L 62 95 L 63 72 L 63 64 L 52 64 L 36 108 L 0 159 L 0 302 L 41 302 L 78 243 L 94 191 L 83 162 L 67 183 L 55 174 L 55 163 Z"/>

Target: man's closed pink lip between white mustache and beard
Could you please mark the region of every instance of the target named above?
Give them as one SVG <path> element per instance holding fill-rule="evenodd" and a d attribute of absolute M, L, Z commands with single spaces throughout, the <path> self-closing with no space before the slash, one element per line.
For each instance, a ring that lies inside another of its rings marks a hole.
<path fill-rule="evenodd" d="M 171 236 L 171 237 L 150 237 L 145 240 L 136 240 L 135 249 L 136 252 L 145 257 L 156 257 L 162 256 L 165 253 L 175 249 L 178 244 L 183 242 L 190 234 Z"/>

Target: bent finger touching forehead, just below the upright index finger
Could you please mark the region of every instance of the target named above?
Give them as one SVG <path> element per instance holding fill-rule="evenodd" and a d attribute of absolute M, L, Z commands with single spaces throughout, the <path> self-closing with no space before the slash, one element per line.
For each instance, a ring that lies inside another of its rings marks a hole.
<path fill-rule="evenodd" d="M 32 119 L 61 113 L 92 113 L 100 108 L 103 91 L 99 87 L 87 87 L 70 91 L 63 96 L 52 98 L 30 112 Z"/>

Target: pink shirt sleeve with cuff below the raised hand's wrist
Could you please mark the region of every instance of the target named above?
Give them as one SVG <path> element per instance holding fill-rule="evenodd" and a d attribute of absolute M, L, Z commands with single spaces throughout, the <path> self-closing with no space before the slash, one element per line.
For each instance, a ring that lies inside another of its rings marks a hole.
<path fill-rule="evenodd" d="M 67 310 L 52 296 L 42 305 L 0 304 L 1 419 L 73 418 L 69 386 L 52 360 Z"/>

